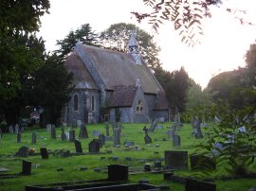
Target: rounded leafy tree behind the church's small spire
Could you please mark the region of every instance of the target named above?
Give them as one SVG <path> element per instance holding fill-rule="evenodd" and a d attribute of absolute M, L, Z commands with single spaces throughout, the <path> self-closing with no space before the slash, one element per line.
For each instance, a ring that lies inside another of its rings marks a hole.
<path fill-rule="evenodd" d="M 119 52 L 128 52 L 131 30 L 136 30 L 137 43 L 143 60 L 153 69 L 160 65 L 158 53 L 160 48 L 154 37 L 132 24 L 119 23 L 109 26 L 101 32 L 101 46 Z"/>

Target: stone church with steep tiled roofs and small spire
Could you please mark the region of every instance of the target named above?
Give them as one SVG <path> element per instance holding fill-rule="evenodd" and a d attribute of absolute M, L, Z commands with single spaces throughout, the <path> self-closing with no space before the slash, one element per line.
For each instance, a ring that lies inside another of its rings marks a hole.
<path fill-rule="evenodd" d="M 128 53 L 79 42 L 64 66 L 75 86 L 63 109 L 64 123 L 168 121 L 165 92 L 140 56 L 134 30 Z"/>

